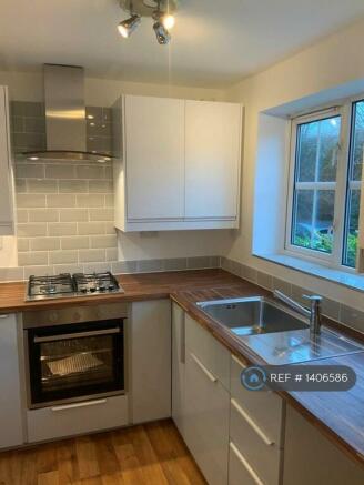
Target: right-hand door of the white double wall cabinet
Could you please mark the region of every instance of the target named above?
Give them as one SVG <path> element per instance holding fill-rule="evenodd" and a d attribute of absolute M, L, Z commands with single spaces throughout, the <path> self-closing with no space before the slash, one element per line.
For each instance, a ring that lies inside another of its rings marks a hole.
<path fill-rule="evenodd" d="M 241 105 L 186 101 L 185 216 L 237 216 Z"/>

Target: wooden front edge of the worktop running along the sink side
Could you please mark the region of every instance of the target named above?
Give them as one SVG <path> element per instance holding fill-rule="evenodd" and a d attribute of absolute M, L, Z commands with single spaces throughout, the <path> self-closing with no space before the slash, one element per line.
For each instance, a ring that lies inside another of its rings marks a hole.
<path fill-rule="evenodd" d="M 224 332 L 222 329 L 218 330 L 216 324 L 213 320 L 209 319 L 206 315 L 202 314 L 198 309 L 191 307 L 191 302 L 183 300 L 183 296 L 179 293 L 172 293 L 170 295 L 171 300 L 174 301 L 179 306 L 181 306 L 193 320 L 198 321 L 204 329 L 206 329 L 222 345 L 224 345 L 229 351 L 235 355 L 245 365 L 265 365 L 266 362 L 260 358 L 255 353 L 250 351 L 244 344 L 240 344 L 237 350 L 231 344 L 226 337 L 224 337 Z M 232 341 L 232 339 L 231 339 Z M 237 343 L 236 343 L 237 346 Z M 358 452 L 354 446 L 352 446 L 346 439 L 341 435 L 335 433 L 327 424 L 320 420 L 315 414 L 313 414 L 306 406 L 304 406 L 300 401 L 286 392 L 277 392 L 277 394 L 289 402 L 296 411 L 299 411 L 307 421 L 312 424 L 316 424 L 320 431 L 351 459 L 364 467 L 364 455 Z"/>

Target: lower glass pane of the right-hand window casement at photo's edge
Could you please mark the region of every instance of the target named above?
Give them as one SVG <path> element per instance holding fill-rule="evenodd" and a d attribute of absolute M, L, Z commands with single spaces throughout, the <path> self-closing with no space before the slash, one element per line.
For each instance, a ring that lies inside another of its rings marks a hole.
<path fill-rule="evenodd" d="M 361 191 L 350 190 L 347 196 L 346 229 L 343 254 L 343 264 L 345 266 L 355 267 L 360 203 Z"/>

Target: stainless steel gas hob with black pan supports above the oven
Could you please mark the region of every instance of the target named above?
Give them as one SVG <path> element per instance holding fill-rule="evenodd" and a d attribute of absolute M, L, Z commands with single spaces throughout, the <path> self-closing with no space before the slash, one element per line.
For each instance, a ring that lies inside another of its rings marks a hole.
<path fill-rule="evenodd" d="M 123 293 L 115 276 L 105 273 L 70 273 L 55 276 L 30 276 L 26 301 Z"/>

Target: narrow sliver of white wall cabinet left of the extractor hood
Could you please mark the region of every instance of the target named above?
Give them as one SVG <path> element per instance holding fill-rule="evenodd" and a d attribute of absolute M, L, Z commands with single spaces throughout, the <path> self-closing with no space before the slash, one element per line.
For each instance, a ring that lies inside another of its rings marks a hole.
<path fill-rule="evenodd" d="M 14 233 L 8 90 L 0 87 L 0 235 Z"/>

